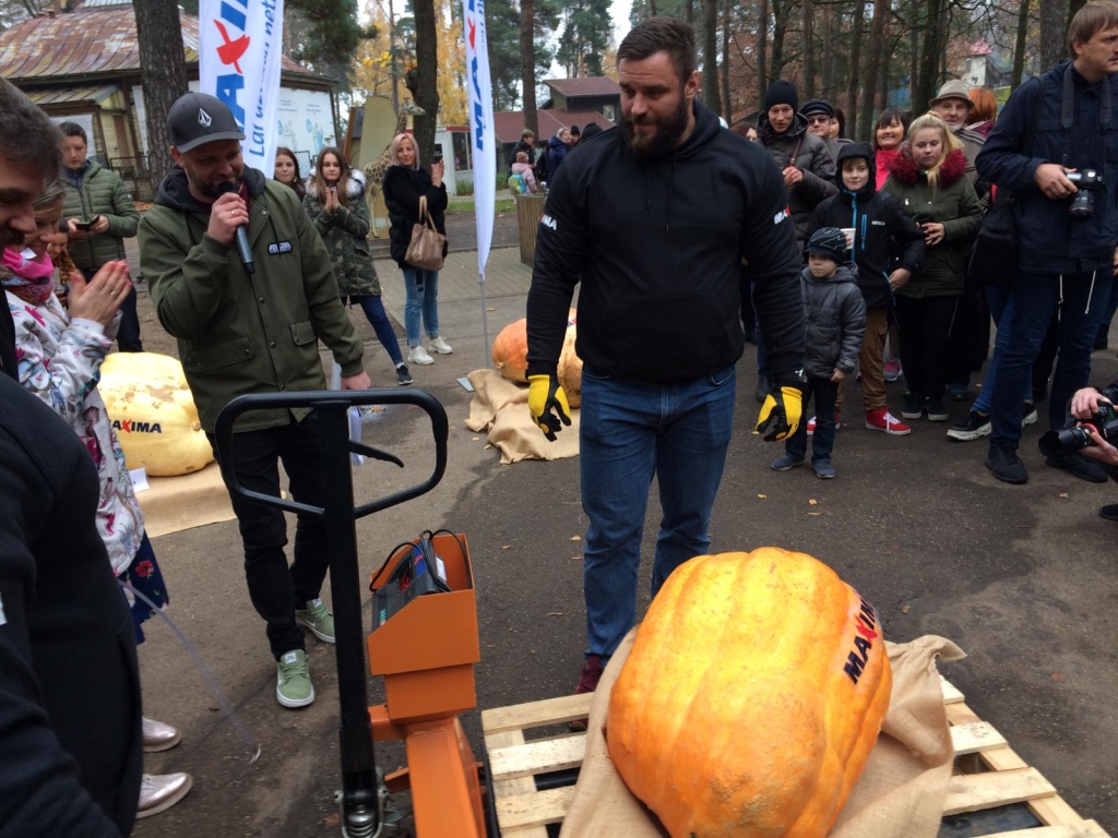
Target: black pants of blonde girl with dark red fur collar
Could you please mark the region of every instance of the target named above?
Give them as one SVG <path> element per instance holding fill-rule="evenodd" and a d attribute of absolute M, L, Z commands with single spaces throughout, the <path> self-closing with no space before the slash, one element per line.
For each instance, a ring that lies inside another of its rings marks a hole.
<path fill-rule="evenodd" d="M 942 399 L 958 296 L 897 297 L 904 381 L 916 396 Z"/>

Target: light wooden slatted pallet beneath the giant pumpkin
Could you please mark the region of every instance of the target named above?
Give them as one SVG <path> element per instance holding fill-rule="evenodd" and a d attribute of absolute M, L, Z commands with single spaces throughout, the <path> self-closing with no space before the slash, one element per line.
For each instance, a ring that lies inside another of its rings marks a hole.
<path fill-rule="evenodd" d="M 1017 818 L 1017 822 L 1026 823 L 1024 828 L 1015 826 L 1004 831 L 1004 826 L 995 826 L 989 831 L 974 831 L 983 827 L 972 825 L 966 835 L 1109 838 L 1097 822 L 1081 818 L 1035 768 L 1014 753 L 994 727 L 978 718 L 958 689 L 947 680 L 942 686 L 956 754 L 956 772 L 944 803 L 946 820 L 958 820 L 969 812 L 1012 813 L 1016 809 L 1024 817 L 1024 821 Z M 585 718 L 591 698 L 588 694 L 569 695 L 482 713 L 502 838 L 548 838 L 548 825 L 562 823 L 575 796 L 574 783 L 541 791 L 537 778 L 578 769 L 586 751 L 586 734 L 562 732 L 529 740 L 525 733 L 557 725 L 565 729 L 567 722 Z M 998 821 L 992 817 L 988 822 Z M 551 834 L 553 830 L 555 827 Z M 953 828 L 950 834 L 959 832 Z"/>

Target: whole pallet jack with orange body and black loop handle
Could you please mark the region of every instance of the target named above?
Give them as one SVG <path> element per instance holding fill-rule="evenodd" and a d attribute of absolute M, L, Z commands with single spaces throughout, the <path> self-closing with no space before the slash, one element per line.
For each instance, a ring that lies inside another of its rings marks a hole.
<path fill-rule="evenodd" d="M 432 422 L 435 467 L 421 484 L 356 506 L 351 453 L 404 466 L 391 454 L 350 440 L 349 408 L 366 404 L 411 404 L 423 409 Z M 227 470 L 227 464 L 233 461 L 237 418 L 276 408 L 311 408 L 319 416 L 321 507 L 253 492 Z M 476 706 L 473 665 L 481 660 L 473 570 L 465 536 L 436 534 L 429 544 L 430 561 L 418 563 L 413 545 L 404 544 L 373 574 L 370 588 L 375 604 L 383 600 L 395 608 L 373 615 L 376 628 L 367 638 L 369 672 L 383 676 L 387 699 L 380 706 L 368 706 L 356 522 L 426 494 L 443 478 L 448 431 L 443 406 L 418 390 L 249 394 L 234 399 L 221 410 L 215 431 L 222 474 L 234 493 L 325 522 L 340 703 L 342 789 L 334 799 L 342 835 L 401 835 L 400 821 L 407 812 L 392 811 L 388 798 L 410 790 L 416 838 L 496 838 L 500 834 L 492 794 L 483 797 L 483 787 L 490 785 L 486 768 L 474 759 L 458 721 L 462 713 Z M 437 566 L 432 566 L 436 562 Z M 423 574 L 428 582 L 437 577 L 438 584 L 428 594 L 417 596 Z M 386 777 L 376 765 L 373 742 L 389 740 L 404 741 L 408 768 Z"/>

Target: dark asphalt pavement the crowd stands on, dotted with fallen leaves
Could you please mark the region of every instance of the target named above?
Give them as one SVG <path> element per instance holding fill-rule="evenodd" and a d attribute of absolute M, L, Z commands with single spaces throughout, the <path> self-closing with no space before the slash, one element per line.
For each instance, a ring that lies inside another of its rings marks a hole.
<path fill-rule="evenodd" d="M 483 314 L 490 340 L 523 316 L 530 272 L 518 251 L 494 250 L 480 302 L 476 255 L 452 254 L 440 280 L 443 335 L 454 354 L 413 368 L 416 387 L 435 396 L 451 418 L 449 467 L 429 495 L 358 524 L 362 596 L 369 622 L 368 575 L 400 541 L 447 527 L 468 539 L 475 571 L 482 661 L 479 707 L 496 707 L 570 692 L 585 647 L 581 593 L 579 463 L 501 466 L 483 435 L 467 430 L 470 393 L 457 378 L 483 365 Z M 402 321 L 402 283 L 378 261 L 390 316 Z M 141 294 L 144 342 L 171 352 L 173 342 Z M 367 366 L 375 382 L 390 364 L 358 310 Z M 402 334 L 402 332 L 399 332 Z M 1026 486 L 993 479 L 983 441 L 957 444 L 946 425 L 915 423 L 894 438 L 862 427 L 861 389 L 847 387 L 844 427 L 834 451 L 837 477 L 809 469 L 775 473 L 780 447 L 752 435 L 757 404 L 751 346 L 738 364 L 737 429 L 714 507 L 716 551 L 777 545 L 827 562 L 872 601 L 887 638 L 938 634 L 969 657 L 942 673 L 1084 817 L 1118 835 L 1118 524 L 1098 507 L 1118 499 L 1112 484 L 1077 480 L 1042 465 L 1026 429 Z M 1112 351 L 1097 352 L 1093 379 L 1118 370 Z M 902 382 L 889 385 L 899 408 Z M 951 404 L 953 420 L 966 404 Z M 367 442 L 406 463 L 354 472 L 356 492 L 371 499 L 416 483 L 433 461 L 429 428 L 415 409 L 391 408 L 367 427 Z M 650 498 L 642 553 L 641 608 L 659 516 Z M 196 836 L 337 836 L 333 791 L 340 787 L 338 691 L 333 654 L 309 638 L 318 701 L 281 708 L 263 623 L 248 601 L 235 522 L 154 540 L 171 593 L 168 615 L 183 630 L 237 713 L 237 727 L 218 710 L 191 658 L 168 627 L 149 623 L 140 649 L 145 714 L 183 731 L 182 744 L 148 756 L 145 770 L 189 771 L 195 789 L 172 810 L 141 821 L 140 838 Z M 328 596 L 329 599 L 329 596 Z M 371 698 L 377 699 L 377 684 Z M 476 713 L 465 717 L 475 749 Z M 728 736 L 749 731 L 729 730 Z M 260 756 L 252 761 L 257 745 Z M 386 770 L 402 750 L 378 745 Z M 480 750 L 477 751 L 480 754 Z"/>

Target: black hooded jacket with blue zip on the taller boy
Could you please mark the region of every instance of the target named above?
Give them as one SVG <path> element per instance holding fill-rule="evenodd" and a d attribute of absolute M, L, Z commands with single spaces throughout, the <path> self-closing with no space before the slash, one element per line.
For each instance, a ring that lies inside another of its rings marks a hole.
<path fill-rule="evenodd" d="M 858 192 L 842 184 L 842 161 L 860 158 L 870 166 L 870 182 Z M 923 259 L 923 230 L 909 218 L 892 196 L 881 194 L 875 188 L 877 166 L 869 143 L 843 145 L 839 151 L 835 184 L 839 194 L 827 198 L 815 208 L 807 228 L 811 236 L 821 227 L 854 228 L 854 261 L 858 264 L 858 286 L 868 308 L 892 305 L 893 293 L 889 274 L 906 268 L 916 274 Z M 890 265 L 890 249 L 897 245 L 898 264 Z"/>

